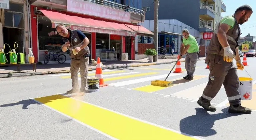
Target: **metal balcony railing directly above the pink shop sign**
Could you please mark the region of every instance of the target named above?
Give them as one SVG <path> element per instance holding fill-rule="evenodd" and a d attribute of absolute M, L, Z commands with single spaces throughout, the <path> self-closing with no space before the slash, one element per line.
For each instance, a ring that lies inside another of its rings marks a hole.
<path fill-rule="evenodd" d="M 115 3 L 115 2 L 111 2 L 111 1 L 107 1 L 107 0 L 84 0 L 84 1 L 88 1 L 88 2 L 91 2 L 91 3 L 96 3 L 96 4 L 100 4 L 100 5 L 104 5 L 104 6 L 108 6 L 108 7 L 111 7 L 111 8 L 121 9 L 121 10 L 124 10 L 126 12 L 130 12 L 130 13 L 134 13 L 134 14 L 144 16 L 144 11 L 143 10 L 136 9 L 136 8 L 133 8 L 133 7 L 128 7 L 126 5 L 118 4 L 118 3 Z"/>

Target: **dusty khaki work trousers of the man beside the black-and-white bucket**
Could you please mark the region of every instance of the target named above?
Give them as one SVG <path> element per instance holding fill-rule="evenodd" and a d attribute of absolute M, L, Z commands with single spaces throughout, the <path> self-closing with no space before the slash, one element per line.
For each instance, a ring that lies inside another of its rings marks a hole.
<path fill-rule="evenodd" d="M 71 80 L 72 87 L 75 89 L 79 88 L 78 85 L 78 70 L 80 68 L 81 75 L 81 88 L 80 91 L 85 91 L 87 85 L 87 76 L 88 76 L 88 66 L 89 66 L 89 58 L 84 59 L 71 59 L 70 63 L 70 72 L 71 72 Z"/>

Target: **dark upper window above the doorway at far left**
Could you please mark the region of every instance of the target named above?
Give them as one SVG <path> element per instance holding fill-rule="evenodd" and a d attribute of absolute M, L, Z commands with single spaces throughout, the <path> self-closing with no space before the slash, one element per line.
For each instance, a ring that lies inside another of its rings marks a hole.
<path fill-rule="evenodd" d="M 4 11 L 5 27 L 24 28 L 23 4 L 10 2 L 10 9 Z"/>

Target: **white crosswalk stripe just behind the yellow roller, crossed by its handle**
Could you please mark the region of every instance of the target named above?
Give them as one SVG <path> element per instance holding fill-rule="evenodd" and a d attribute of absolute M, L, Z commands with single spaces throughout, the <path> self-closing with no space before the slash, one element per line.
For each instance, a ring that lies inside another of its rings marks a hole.
<path fill-rule="evenodd" d="M 146 78 L 140 78 L 140 79 L 134 79 L 134 80 L 128 80 L 128 81 L 122 81 L 122 82 L 117 82 L 117 83 L 112 83 L 109 85 L 113 85 L 113 86 L 126 86 L 126 85 L 131 85 L 131 84 L 136 84 L 136 83 L 141 83 L 141 82 L 146 82 L 146 81 L 151 81 L 151 80 L 156 80 L 156 79 L 160 79 L 160 78 L 166 78 L 168 74 L 164 74 L 164 75 L 158 75 L 158 76 L 152 76 L 152 77 L 146 77 Z M 169 77 L 171 76 L 177 76 L 180 74 L 176 74 L 176 73 L 171 73 L 169 75 Z"/>

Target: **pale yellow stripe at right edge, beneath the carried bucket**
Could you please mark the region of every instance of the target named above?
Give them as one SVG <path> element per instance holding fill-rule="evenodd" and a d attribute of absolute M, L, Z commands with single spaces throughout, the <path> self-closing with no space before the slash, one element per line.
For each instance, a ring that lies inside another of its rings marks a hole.
<path fill-rule="evenodd" d="M 255 91 L 256 90 L 256 84 L 254 84 L 252 86 L 252 90 L 253 90 L 253 92 L 252 92 L 252 99 L 251 100 L 242 100 L 241 104 L 244 107 L 248 107 L 248 108 L 250 108 L 252 110 L 256 110 L 256 91 Z M 227 103 L 226 105 L 229 106 L 229 103 Z"/>

